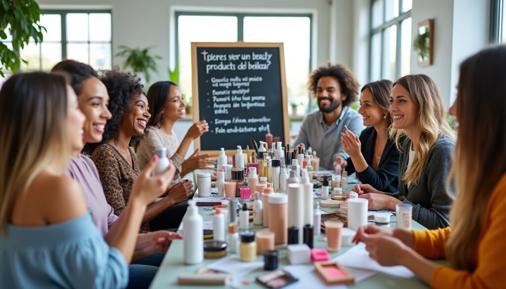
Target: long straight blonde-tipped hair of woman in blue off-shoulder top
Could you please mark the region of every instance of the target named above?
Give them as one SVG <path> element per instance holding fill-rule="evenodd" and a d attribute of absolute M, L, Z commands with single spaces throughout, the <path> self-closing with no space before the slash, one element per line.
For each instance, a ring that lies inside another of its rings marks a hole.
<path fill-rule="evenodd" d="M 63 173 L 70 156 L 63 75 L 15 74 L 0 90 L 0 235 L 14 201 L 49 164 Z"/>

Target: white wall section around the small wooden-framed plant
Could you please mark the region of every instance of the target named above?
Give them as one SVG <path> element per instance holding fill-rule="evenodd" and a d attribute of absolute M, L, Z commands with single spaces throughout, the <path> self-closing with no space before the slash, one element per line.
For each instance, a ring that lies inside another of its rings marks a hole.
<path fill-rule="evenodd" d="M 412 52 L 411 72 L 432 77 L 446 107 L 455 98 L 460 62 L 488 44 L 489 14 L 489 1 L 413 0 L 413 37 L 418 22 L 434 19 L 434 64 L 418 67 Z"/>

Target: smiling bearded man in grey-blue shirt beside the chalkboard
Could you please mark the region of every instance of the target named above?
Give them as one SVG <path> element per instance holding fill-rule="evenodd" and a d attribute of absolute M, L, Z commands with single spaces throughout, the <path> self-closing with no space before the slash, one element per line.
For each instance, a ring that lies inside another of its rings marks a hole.
<path fill-rule="evenodd" d="M 311 73 L 309 90 L 320 109 L 304 118 L 294 144 L 311 147 L 320 157 L 320 167 L 332 170 L 336 156 L 348 157 L 341 133 L 346 127 L 355 135 L 365 129 L 362 116 L 350 107 L 357 101 L 358 81 L 345 65 L 328 63 Z"/>

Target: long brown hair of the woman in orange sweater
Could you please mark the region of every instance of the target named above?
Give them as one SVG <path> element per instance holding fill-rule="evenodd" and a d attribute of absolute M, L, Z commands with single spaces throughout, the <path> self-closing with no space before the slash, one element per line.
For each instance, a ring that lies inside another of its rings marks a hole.
<path fill-rule="evenodd" d="M 459 270 L 474 271 L 473 256 L 494 187 L 506 174 L 506 46 L 482 50 L 460 65 L 458 138 L 450 178 L 455 201 L 446 256 Z M 500 258 L 500 257 L 498 257 Z"/>

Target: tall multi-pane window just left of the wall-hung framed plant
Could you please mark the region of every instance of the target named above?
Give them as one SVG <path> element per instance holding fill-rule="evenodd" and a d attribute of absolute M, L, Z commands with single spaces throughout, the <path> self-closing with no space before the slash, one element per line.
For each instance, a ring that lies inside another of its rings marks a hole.
<path fill-rule="evenodd" d="M 412 0 L 372 0 L 369 80 L 410 72 Z"/>

